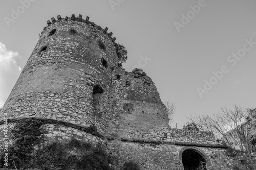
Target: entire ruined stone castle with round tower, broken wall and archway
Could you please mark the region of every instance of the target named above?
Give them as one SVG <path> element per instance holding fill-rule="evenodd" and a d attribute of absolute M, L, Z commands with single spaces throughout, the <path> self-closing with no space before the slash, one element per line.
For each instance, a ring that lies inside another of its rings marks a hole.
<path fill-rule="evenodd" d="M 108 28 L 81 15 L 58 15 L 47 25 L 0 112 L 1 129 L 5 115 L 9 127 L 19 119 L 40 120 L 49 143 L 75 137 L 104 145 L 112 169 L 128 161 L 154 170 L 232 169 L 238 163 L 213 133 L 169 128 L 154 82 L 120 67 Z"/>

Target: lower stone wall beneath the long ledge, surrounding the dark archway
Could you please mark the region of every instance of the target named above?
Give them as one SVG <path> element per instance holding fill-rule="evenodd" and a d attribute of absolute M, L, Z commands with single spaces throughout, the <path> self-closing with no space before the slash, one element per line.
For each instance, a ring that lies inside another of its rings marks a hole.
<path fill-rule="evenodd" d="M 255 169 L 256 154 L 239 153 L 228 156 L 226 149 L 188 147 L 173 144 L 137 143 L 111 141 L 108 143 L 112 155 L 113 169 L 122 169 L 125 162 L 134 161 L 142 170 L 177 169 L 183 170 L 183 159 L 189 157 L 184 151 L 195 152 L 205 160 L 208 170 Z M 242 163 L 241 163 L 242 162 Z"/>

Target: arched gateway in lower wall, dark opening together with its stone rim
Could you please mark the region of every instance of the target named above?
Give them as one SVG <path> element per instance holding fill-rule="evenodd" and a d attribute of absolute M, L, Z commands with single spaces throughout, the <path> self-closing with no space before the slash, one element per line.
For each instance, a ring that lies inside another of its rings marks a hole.
<path fill-rule="evenodd" d="M 180 160 L 184 170 L 207 170 L 211 166 L 208 156 L 196 147 L 184 147 L 180 151 Z"/>

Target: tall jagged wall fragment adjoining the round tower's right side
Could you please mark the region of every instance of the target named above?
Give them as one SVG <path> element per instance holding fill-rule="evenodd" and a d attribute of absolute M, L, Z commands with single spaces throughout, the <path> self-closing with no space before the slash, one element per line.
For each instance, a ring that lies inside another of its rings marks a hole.
<path fill-rule="evenodd" d="M 147 132 L 168 126 L 165 106 L 151 78 L 135 78 L 124 69 L 115 70 L 112 76 L 110 134 L 122 137 L 128 129 Z"/>

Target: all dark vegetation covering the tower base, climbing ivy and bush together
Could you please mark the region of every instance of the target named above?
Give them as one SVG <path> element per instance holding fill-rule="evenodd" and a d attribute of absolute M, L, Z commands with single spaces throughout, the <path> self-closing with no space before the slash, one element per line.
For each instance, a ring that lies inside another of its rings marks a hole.
<path fill-rule="evenodd" d="M 16 122 L 10 130 L 13 143 L 8 149 L 8 169 L 110 169 L 109 156 L 101 145 L 75 138 L 46 143 L 43 124 L 36 119 Z M 0 167 L 4 167 L 3 154 L 1 151 Z"/>

